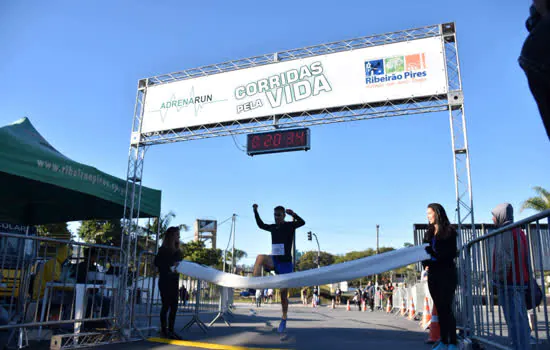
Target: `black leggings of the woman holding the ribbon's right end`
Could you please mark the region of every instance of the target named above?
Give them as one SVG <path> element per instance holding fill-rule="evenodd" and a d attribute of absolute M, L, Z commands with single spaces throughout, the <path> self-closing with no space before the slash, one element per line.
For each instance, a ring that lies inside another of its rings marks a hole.
<path fill-rule="evenodd" d="M 443 344 L 456 344 L 456 319 L 453 310 L 453 301 L 457 284 L 456 269 L 444 269 L 433 271 L 430 268 L 428 275 L 428 288 L 434 301 L 441 341 Z"/>

